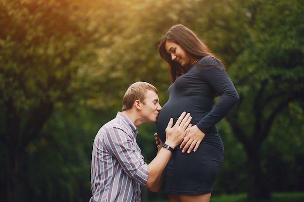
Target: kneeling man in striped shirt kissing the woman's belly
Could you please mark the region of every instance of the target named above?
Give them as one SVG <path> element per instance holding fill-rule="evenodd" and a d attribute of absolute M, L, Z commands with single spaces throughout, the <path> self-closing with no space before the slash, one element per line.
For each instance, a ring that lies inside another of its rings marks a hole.
<path fill-rule="evenodd" d="M 140 185 L 157 192 L 173 149 L 191 126 L 183 112 L 176 124 L 171 118 L 166 142 L 160 142 L 156 157 L 148 165 L 136 143 L 137 127 L 156 122 L 162 107 L 158 92 L 147 82 L 132 84 L 123 97 L 121 112 L 98 131 L 92 151 L 90 202 L 141 202 Z M 186 130 L 186 131 L 185 131 Z"/>

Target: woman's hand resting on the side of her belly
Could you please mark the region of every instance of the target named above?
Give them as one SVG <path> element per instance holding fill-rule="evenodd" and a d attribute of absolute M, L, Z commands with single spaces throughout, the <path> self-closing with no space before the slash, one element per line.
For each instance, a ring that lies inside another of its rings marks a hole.
<path fill-rule="evenodd" d="M 184 138 L 180 149 L 183 149 L 182 152 L 185 153 L 186 150 L 188 154 L 193 150 L 196 152 L 200 146 L 201 141 L 204 139 L 205 134 L 196 126 L 193 125 L 191 128 L 188 129 L 189 131 Z"/>

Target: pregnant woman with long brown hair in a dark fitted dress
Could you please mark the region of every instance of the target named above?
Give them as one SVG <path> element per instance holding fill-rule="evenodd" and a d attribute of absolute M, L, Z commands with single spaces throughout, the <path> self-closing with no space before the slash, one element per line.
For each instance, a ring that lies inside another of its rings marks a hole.
<path fill-rule="evenodd" d="M 222 62 L 184 25 L 171 27 L 158 50 L 173 81 L 156 123 L 159 139 L 165 142 L 170 117 L 177 120 L 183 111 L 192 116 L 185 140 L 166 167 L 165 193 L 170 202 L 209 202 L 224 158 L 216 124 L 239 100 L 236 88 Z"/>

